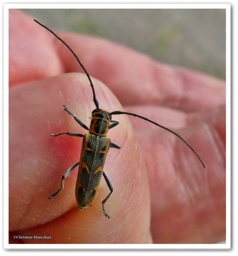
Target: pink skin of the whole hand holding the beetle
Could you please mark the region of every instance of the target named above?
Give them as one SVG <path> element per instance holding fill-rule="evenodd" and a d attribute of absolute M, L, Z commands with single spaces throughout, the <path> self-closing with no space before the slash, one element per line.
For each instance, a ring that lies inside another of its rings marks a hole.
<path fill-rule="evenodd" d="M 47 25 L 47 24 L 45 24 Z M 49 24 L 48 24 L 49 25 Z M 58 33 L 58 32 L 57 32 Z M 77 209 L 77 168 L 53 200 L 63 173 L 79 161 L 95 108 L 88 79 L 68 49 L 31 16 L 9 10 L 9 243 L 216 243 L 226 232 L 226 95 L 214 77 L 157 63 L 103 39 L 58 33 L 92 77 L 99 106 L 146 116 L 113 116 L 110 148 L 96 200 Z M 77 73 L 72 73 L 77 72 Z M 81 73 L 80 73 L 81 72 Z M 65 74 L 67 73 L 67 74 Z M 105 85 L 106 84 L 106 85 Z M 51 239 L 13 239 L 51 236 Z"/>

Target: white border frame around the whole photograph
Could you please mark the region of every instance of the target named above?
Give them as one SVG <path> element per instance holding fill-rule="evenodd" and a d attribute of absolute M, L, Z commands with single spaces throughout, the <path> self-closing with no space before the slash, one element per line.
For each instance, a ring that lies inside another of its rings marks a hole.
<path fill-rule="evenodd" d="M 66 8 L 67 7 L 67 8 Z M 9 244 L 8 243 L 8 10 L 32 9 L 226 9 L 226 244 Z M 6 249 L 229 249 L 231 246 L 231 6 L 230 4 L 4 4 L 4 248 Z"/>

